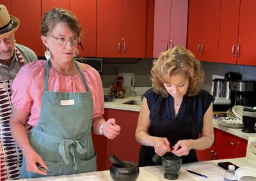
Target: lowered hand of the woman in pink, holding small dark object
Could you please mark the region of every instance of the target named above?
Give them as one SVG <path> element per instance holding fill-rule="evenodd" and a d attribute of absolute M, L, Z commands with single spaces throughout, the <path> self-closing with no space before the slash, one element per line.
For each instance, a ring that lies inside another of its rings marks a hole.
<path fill-rule="evenodd" d="M 26 168 L 27 168 L 27 171 L 31 171 L 33 173 L 39 173 L 39 174 L 42 174 L 42 175 L 47 175 L 46 171 L 40 170 L 36 166 L 36 163 L 38 163 L 41 166 L 43 166 L 46 170 L 48 170 L 48 168 L 45 165 L 45 163 L 42 160 L 42 158 L 38 154 L 36 154 L 36 152 L 34 150 L 29 152 L 28 154 L 24 155 L 24 157 L 26 158 Z"/>

